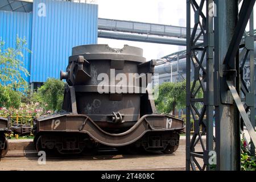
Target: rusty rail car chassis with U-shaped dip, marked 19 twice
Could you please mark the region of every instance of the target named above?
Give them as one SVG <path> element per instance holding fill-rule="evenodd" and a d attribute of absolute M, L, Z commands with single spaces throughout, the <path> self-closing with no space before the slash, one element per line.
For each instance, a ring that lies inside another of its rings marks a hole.
<path fill-rule="evenodd" d="M 98 144 L 105 146 L 142 147 L 146 151 L 171 154 L 179 146 L 181 119 L 171 115 L 143 115 L 129 130 L 113 134 L 101 129 L 84 114 L 59 113 L 35 119 L 36 150 L 56 149 L 60 154 L 79 154 Z M 55 131 L 55 132 L 52 132 Z"/>

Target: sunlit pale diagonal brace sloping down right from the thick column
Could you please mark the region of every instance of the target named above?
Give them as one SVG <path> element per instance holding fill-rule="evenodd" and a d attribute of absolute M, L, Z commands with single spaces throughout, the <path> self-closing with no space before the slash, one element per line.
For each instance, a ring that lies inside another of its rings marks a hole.
<path fill-rule="evenodd" d="M 236 102 L 237 108 L 240 111 L 241 117 L 243 119 L 243 122 L 245 122 L 245 126 L 247 127 L 247 130 L 249 132 L 249 135 L 251 137 L 251 140 L 253 141 L 254 145 L 256 144 L 256 133 L 254 131 L 253 126 L 251 125 L 250 119 L 245 111 L 245 107 L 243 107 L 243 104 L 240 100 L 240 97 L 237 93 L 236 88 L 232 84 L 232 81 L 226 81 L 226 83 L 229 86 L 229 90 L 234 98 L 234 101 Z"/>

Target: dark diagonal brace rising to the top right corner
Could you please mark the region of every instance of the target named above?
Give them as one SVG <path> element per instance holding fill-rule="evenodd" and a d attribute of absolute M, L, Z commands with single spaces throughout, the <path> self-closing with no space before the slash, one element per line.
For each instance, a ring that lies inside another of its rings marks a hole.
<path fill-rule="evenodd" d="M 255 0 L 243 0 L 242 7 L 240 10 L 238 22 L 236 29 L 234 31 L 234 35 L 229 44 L 228 52 L 226 53 L 226 57 L 224 59 L 223 64 L 229 64 L 229 60 L 234 60 L 240 46 L 243 33 L 245 32 L 245 28 L 247 22 L 250 18 L 251 11 L 253 10 Z"/>

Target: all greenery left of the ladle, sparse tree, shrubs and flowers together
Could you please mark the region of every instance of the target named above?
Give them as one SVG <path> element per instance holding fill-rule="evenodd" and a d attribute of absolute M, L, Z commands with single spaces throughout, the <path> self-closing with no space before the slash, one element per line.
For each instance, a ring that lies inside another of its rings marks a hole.
<path fill-rule="evenodd" d="M 22 52 L 31 52 L 26 44 L 18 36 L 15 48 L 5 49 L 5 42 L 0 42 L 0 115 L 40 115 L 61 109 L 64 82 L 60 80 L 50 78 L 37 93 L 26 93 L 28 85 L 22 75 L 29 74 Z"/>

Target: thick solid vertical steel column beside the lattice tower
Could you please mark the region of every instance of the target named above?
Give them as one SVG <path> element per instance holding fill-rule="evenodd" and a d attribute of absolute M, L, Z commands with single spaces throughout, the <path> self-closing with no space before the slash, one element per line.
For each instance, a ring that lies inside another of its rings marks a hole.
<path fill-rule="evenodd" d="M 216 153 L 218 170 L 240 169 L 240 118 L 227 78 L 240 88 L 238 54 L 229 65 L 224 60 L 238 21 L 238 1 L 215 1 L 214 19 L 214 106 L 216 113 Z M 241 42 L 241 40 L 240 40 Z M 238 49 L 236 50 L 238 53 Z M 232 68 L 232 69 L 231 69 Z M 238 72 L 236 70 L 238 68 Z"/>

